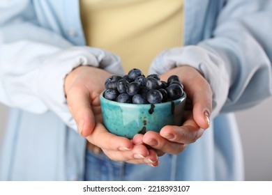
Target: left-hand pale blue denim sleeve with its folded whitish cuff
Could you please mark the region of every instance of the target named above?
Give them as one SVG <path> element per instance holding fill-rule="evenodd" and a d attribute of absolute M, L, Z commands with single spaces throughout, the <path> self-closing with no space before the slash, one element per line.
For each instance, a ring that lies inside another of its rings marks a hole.
<path fill-rule="evenodd" d="M 0 101 L 3 104 L 36 114 L 53 111 L 76 129 L 63 84 L 66 75 L 79 65 L 92 65 L 112 73 L 123 70 L 114 54 L 75 46 L 38 25 L 31 1 L 1 1 Z"/>

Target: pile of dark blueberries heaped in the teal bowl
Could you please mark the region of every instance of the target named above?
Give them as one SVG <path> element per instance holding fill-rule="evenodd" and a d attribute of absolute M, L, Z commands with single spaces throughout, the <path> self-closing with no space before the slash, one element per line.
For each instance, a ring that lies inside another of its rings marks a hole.
<path fill-rule="evenodd" d="M 166 81 L 160 75 L 144 76 L 141 70 L 133 68 L 123 77 L 112 75 L 105 81 L 104 98 L 132 104 L 156 104 L 169 102 L 183 96 L 183 85 L 178 76 L 172 75 Z"/>

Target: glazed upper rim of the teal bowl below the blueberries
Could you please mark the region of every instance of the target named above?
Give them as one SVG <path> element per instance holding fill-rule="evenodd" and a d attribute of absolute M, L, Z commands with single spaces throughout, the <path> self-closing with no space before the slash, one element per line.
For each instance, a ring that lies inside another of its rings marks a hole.
<path fill-rule="evenodd" d="M 100 104 L 101 104 L 101 101 L 107 103 L 107 104 L 112 104 L 112 105 L 115 105 L 115 106 L 121 106 L 121 107 L 150 107 L 151 104 L 131 104 L 131 103 L 123 103 L 123 102 L 115 102 L 115 101 L 112 101 L 112 100 L 107 100 L 106 98 L 104 98 L 103 94 L 104 94 L 105 90 L 102 91 L 100 93 Z M 169 102 L 163 102 L 163 103 L 156 103 L 154 105 L 156 105 L 156 107 L 163 107 L 163 106 L 167 106 L 168 104 L 169 105 L 172 105 L 172 102 L 183 102 L 184 100 L 186 100 L 186 92 L 183 91 L 183 95 L 181 96 L 181 98 L 178 98 L 176 100 L 172 100 L 172 101 L 169 101 Z"/>

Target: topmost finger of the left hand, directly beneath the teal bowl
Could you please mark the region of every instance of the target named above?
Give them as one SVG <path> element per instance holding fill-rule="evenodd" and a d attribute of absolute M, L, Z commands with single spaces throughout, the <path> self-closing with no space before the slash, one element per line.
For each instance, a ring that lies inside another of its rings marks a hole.
<path fill-rule="evenodd" d="M 101 123 L 96 124 L 92 134 L 86 139 L 103 150 L 126 151 L 133 148 L 130 139 L 109 133 Z"/>

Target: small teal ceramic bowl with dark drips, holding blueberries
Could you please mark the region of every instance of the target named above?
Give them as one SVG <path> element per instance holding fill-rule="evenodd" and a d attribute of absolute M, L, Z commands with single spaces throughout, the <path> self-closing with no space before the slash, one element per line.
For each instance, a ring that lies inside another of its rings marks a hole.
<path fill-rule="evenodd" d="M 104 93 L 104 92 L 103 92 Z M 100 94 L 103 123 L 112 134 L 133 138 L 147 131 L 160 132 L 165 125 L 181 125 L 186 93 L 172 102 L 128 104 L 107 100 Z"/>

